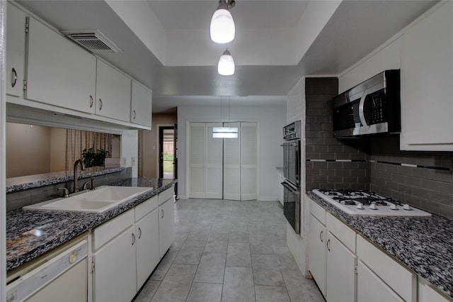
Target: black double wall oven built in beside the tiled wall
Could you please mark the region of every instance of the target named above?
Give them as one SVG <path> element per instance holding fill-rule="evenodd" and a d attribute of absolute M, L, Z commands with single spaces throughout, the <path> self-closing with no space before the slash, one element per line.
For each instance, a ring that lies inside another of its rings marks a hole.
<path fill-rule="evenodd" d="M 300 128 L 295 121 L 283 128 L 283 214 L 294 231 L 300 233 Z"/>

